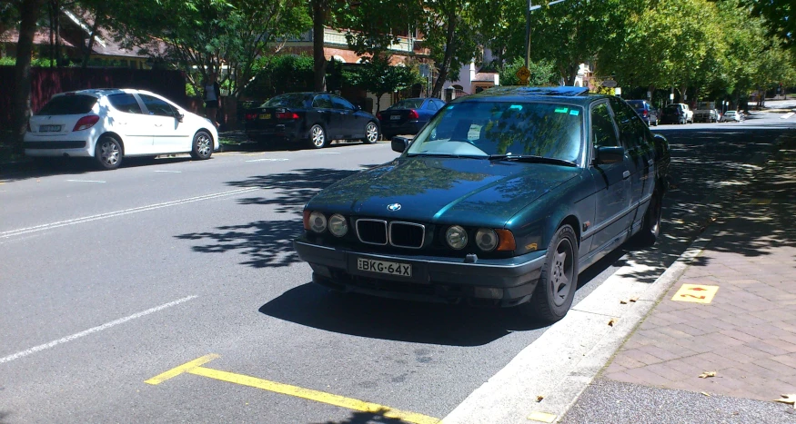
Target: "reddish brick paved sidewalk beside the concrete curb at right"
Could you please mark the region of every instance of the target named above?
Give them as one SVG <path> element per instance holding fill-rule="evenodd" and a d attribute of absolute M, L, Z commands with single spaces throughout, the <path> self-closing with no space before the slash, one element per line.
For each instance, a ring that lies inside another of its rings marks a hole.
<path fill-rule="evenodd" d="M 713 240 L 603 379 L 759 400 L 796 393 L 794 149 L 796 143 L 786 142 L 721 211 Z M 682 284 L 719 289 L 708 304 L 672 301 Z M 705 371 L 715 377 L 700 378 Z"/>

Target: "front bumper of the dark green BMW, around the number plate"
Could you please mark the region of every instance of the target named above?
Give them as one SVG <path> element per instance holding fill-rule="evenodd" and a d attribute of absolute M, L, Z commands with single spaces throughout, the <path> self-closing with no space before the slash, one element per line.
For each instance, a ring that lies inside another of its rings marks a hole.
<path fill-rule="evenodd" d="M 485 306 L 515 306 L 530 300 L 536 288 L 545 251 L 507 259 L 419 255 L 381 255 L 293 241 L 302 261 L 312 267 L 312 281 L 337 291 L 356 291 L 410 301 L 467 302 Z M 409 264 L 411 277 L 358 270 L 358 258 Z"/>

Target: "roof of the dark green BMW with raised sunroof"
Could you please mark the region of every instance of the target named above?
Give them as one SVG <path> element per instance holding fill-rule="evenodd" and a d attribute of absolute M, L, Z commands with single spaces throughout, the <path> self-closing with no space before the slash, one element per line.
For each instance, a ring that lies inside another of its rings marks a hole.
<path fill-rule="evenodd" d="M 558 100 L 568 104 L 589 104 L 596 100 L 610 97 L 606 94 L 591 94 L 589 87 L 523 87 L 523 86 L 498 86 L 484 90 L 479 94 L 470 94 L 459 97 L 451 103 L 459 102 L 488 102 L 488 101 L 549 101 Z"/>

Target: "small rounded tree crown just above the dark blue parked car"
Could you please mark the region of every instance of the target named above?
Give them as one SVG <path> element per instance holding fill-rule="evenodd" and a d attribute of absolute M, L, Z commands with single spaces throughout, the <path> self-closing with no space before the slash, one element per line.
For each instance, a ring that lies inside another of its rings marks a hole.
<path fill-rule="evenodd" d="M 390 65 L 387 56 L 371 57 L 357 68 L 343 71 L 343 79 L 348 84 L 376 94 L 377 112 L 384 94 L 395 93 L 423 82 L 417 69 Z"/>

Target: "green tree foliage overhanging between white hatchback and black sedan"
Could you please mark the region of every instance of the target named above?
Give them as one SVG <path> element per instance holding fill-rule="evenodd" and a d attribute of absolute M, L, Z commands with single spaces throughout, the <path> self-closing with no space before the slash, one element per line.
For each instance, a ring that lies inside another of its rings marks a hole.
<path fill-rule="evenodd" d="M 176 60 L 197 87 L 219 74 L 232 95 L 240 94 L 268 44 L 309 27 L 307 9 L 298 0 L 130 0 L 112 24 L 130 44 L 146 53 Z M 166 51 L 159 50 L 166 44 Z M 222 70 L 222 64 L 226 72 Z"/>

